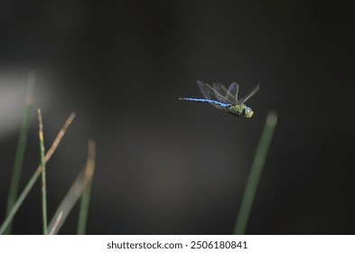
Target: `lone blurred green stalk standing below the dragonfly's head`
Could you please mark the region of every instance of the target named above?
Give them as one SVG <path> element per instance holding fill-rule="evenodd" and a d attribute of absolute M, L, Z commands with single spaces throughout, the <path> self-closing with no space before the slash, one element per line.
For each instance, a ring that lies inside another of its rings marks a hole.
<path fill-rule="evenodd" d="M 269 112 L 266 117 L 266 123 L 261 134 L 259 144 L 257 145 L 257 152 L 254 156 L 253 164 L 251 165 L 246 189 L 240 203 L 236 228 L 234 230 L 234 234 L 236 235 L 245 234 L 251 207 L 257 192 L 257 184 L 266 161 L 267 151 L 269 149 L 276 124 L 276 113 Z"/>

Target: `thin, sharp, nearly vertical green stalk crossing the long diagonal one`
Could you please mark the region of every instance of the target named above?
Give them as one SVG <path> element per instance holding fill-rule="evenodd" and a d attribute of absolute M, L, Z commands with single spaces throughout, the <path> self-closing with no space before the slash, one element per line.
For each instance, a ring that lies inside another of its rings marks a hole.
<path fill-rule="evenodd" d="M 40 137 L 40 150 L 41 150 L 41 166 L 42 166 L 42 219 L 43 219 L 43 234 L 48 234 L 47 227 L 47 186 L 46 186 L 46 173 L 44 161 L 44 138 L 43 138 L 43 122 L 41 109 L 37 109 L 38 122 L 39 122 L 39 137 Z"/>

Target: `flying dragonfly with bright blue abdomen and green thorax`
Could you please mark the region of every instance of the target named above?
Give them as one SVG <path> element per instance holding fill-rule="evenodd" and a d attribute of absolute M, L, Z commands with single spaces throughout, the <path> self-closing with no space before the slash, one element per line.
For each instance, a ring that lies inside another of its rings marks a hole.
<path fill-rule="evenodd" d="M 205 98 L 179 98 L 182 101 L 208 103 L 215 108 L 227 111 L 228 113 L 237 117 L 252 117 L 254 111 L 249 108 L 245 102 L 253 97 L 260 87 L 252 89 L 248 95 L 243 98 L 238 98 L 239 86 L 237 82 L 232 82 L 229 89 L 224 87 L 219 82 L 214 82 L 213 87 L 209 84 L 197 80 L 197 85 L 201 89 L 202 95 Z"/>

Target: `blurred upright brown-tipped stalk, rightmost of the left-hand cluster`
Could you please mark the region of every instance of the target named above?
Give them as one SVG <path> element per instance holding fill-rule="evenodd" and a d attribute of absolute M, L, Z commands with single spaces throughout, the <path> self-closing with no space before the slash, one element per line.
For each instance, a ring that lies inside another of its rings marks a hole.
<path fill-rule="evenodd" d="M 96 157 L 96 148 L 95 142 L 89 140 L 88 142 L 88 162 L 85 169 L 84 183 L 85 188 L 84 192 L 81 195 L 80 208 L 79 208 L 79 222 L 78 222 L 78 231 L 79 235 L 84 235 L 86 231 L 86 225 L 88 220 L 89 213 L 89 200 L 91 193 L 91 184 L 95 171 L 95 157 Z"/>

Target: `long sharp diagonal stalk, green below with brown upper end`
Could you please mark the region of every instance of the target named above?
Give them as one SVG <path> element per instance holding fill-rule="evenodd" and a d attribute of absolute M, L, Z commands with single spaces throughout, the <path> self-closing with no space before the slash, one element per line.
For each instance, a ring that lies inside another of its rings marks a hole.
<path fill-rule="evenodd" d="M 53 143 L 51 144 L 51 148 L 48 150 L 47 154 L 44 156 L 44 163 L 48 163 L 48 161 L 51 159 L 51 155 L 55 152 L 57 149 L 58 145 L 61 143 L 62 137 L 65 135 L 65 132 L 67 131 L 68 127 L 70 126 L 71 122 L 75 118 L 75 113 L 71 113 L 70 117 L 65 121 L 64 125 L 61 127 L 60 132 L 54 139 Z M 20 194 L 18 197 L 17 201 L 14 202 L 14 206 L 9 212 L 9 214 L 6 216 L 3 224 L 0 227 L 0 235 L 4 234 L 6 228 L 10 224 L 11 220 L 14 219 L 14 215 L 20 208 L 21 204 L 23 203 L 24 199 L 27 197 L 28 193 L 31 191 L 33 188 L 34 183 L 36 183 L 36 180 L 42 173 L 42 165 L 38 165 L 36 171 L 33 173 L 33 176 L 31 177 L 30 181 L 26 184 L 26 186 L 23 189 L 23 192 Z"/>

